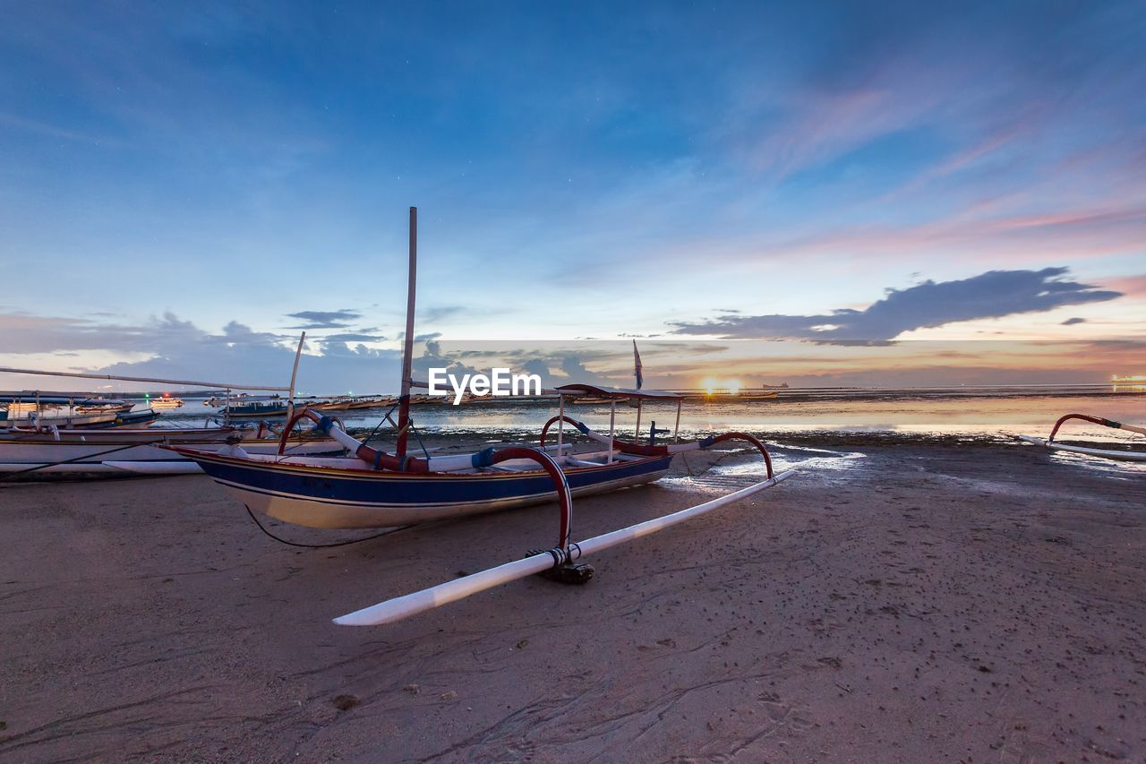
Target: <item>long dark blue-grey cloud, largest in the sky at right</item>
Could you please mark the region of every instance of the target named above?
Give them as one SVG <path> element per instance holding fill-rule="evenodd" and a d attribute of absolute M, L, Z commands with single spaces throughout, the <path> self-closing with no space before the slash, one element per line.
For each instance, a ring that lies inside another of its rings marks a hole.
<path fill-rule="evenodd" d="M 1067 268 L 989 271 L 958 281 L 925 281 L 887 295 L 863 310 L 821 315 L 722 315 L 697 323 L 673 321 L 676 334 L 724 338 L 885 341 L 904 332 L 1015 313 L 1049 311 L 1121 297 L 1122 293 L 1063 281 Z"/>

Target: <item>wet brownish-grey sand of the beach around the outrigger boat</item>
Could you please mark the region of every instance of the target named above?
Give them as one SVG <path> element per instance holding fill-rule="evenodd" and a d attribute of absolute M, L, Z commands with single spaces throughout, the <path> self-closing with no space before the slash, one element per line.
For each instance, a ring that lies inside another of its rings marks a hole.
<path fill-rule="evenodd" d="M 555 507 L 300 549 L 205 477 L 3 488 L 0 759 L 1146 759 L 1146 474 L 840 451 L 587 586 L 375 629 L 330 618 L 549 545 Z M 574 537 L 747 482 L 711 458 Z"/>

